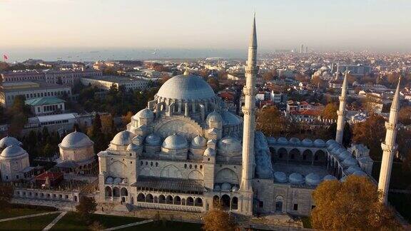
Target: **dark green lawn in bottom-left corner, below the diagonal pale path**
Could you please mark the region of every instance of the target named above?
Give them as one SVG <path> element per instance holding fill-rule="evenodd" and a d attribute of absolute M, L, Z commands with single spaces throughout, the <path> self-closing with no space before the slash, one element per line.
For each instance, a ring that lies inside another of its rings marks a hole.
<path fill-rule="evenodd" d="M 0 222 L 0 230 L 43 230 L 59 213 Z"/>

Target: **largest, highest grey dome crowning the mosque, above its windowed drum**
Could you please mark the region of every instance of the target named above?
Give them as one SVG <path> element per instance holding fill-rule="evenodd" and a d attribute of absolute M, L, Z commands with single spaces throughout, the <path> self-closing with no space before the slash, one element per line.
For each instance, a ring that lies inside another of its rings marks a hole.
<path fill-rule="evenodd" d="M 192 101 L 213 98 L 215 93 L 203 78 L 187 73 L 166 81 L 158 90 L 157 96 Z"/>

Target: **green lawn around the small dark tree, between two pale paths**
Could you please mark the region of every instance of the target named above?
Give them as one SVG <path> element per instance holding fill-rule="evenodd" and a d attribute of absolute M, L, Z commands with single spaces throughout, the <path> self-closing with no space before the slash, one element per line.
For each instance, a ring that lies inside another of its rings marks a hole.
<path fill-rule="evenodd" d="M 80 219 L 80 215 L 76 212 L 68 212 L 51 230 L 88 230 L 89 225 Z M 104 228 L 115 227 L 118 225 L 126 225 L 133 222 L 138 222 L 145 219 L 137 217 L 120 217 L 112 215 L 91 214 L 89 224 L 98 221 Z"/>

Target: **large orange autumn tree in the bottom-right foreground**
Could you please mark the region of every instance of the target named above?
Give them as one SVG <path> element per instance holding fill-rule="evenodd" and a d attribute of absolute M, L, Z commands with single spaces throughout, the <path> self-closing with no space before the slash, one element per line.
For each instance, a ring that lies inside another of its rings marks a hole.
<path fill-rule="evenodd" d="M 392 210 L 380 200 L 368 178 L 350 175 L 344 182 L 327 180 L 313 192 L 311 222 L 318 230 L 398 230 Z"/>

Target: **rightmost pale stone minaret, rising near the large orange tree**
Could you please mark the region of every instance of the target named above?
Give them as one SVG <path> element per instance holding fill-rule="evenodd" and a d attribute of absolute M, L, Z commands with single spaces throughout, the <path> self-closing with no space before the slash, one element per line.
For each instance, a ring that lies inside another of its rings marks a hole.
<path fill-rule="evenodd" d="M 380 170 L 380 180 L 378 180 L 378 190 L 382 192 L 380 197 L 381 202 L 387 204 L 388 190 L 390 188 L 390 177 L 392 168 L 392 159 L 397 151 L 395 139 L 397 138 L 397 116 L 400 111 L 400 80 L 398 80 L 397 90 L 392 99 L 390 118 L 385 122 L 387 133 L 385 134 L 385 142 L 381 143 L 382 161 Z"/>

